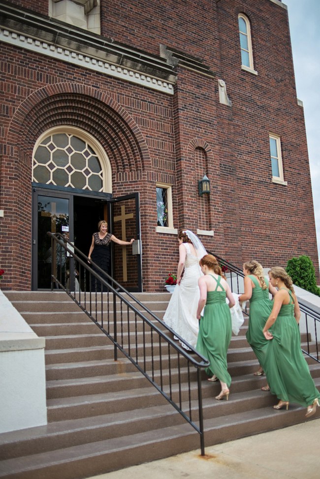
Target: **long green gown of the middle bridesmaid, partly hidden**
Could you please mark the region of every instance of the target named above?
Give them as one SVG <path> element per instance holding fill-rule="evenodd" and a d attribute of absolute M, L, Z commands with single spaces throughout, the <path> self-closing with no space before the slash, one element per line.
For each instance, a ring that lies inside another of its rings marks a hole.
<path fill-rule="evenodd" d="M 252 288 L 250 298 L 249 327 L 246 333 L 247 341 L 254 350 L 260 366 L 264 370 L 264 358 L 268 340 L 264 337 L 262 329 L 270 316 L 273 302 L 269 299 L 269 281 L 266 279 L 266 289 L 262 289 L 256 276 L 249 274 L 255 288 Z"/>

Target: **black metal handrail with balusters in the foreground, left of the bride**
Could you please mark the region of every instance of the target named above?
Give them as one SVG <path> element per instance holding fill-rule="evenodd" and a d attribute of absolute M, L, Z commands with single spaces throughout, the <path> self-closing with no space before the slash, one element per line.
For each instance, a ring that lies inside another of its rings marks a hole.
<path fill-rule="evenodd" d="M 114 359 L 118 359 L 120 350 L 192 425 L 199 434 L 201 455 L 204 455 L 201 370 L 209 366 L 208 360 L 98 265 L 93 261 L 89 264 L 89 258 L 62 234 L 47 234 L 51 238 L 52 258 L 62 254 L 70 257 L 69 274 L 59 266 L 63 264 L 61 258 L 52 261 L 51 289 L 54 285 L 62 288 L 113 342 Z M 105 291 L 97 292 L 97 285 Z M 142 331 L 138 329 L 139 322 L 142 322 Z M 168 333 L 176 335 L 191 352 L 183 349 Z M 147 360 L 148 353 L 151 362 Z M 168 362 L 166 374 L 162 364 L 165 359 Z M 196 378 L 192 368 L 196 369 Z M 197 390 L 192 388 L 195 379 Z"/>

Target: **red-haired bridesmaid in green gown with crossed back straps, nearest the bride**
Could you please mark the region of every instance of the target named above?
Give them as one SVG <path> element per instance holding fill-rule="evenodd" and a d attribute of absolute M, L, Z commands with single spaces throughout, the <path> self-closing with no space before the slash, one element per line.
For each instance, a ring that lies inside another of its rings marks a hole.
<path fill-rule="evenodd" d="M 200 320 L 196 349 L 210 362 L 206 373 L 215 374 L 221 383 L 221 392 L 216 399 L 229 397 L 231 377 L 227 371 L 226 354 L 231 340 L 231 315 L 229 308 L 235 304 L 231 290 L 218 261 L 211 254 L 201 258 L 204 276 L 198 279 L 200 299 L 197 319 Z M 228 298 L 229 304 L 226 303 Z M 204 307 L 203 317 L 201 311 Z"/>

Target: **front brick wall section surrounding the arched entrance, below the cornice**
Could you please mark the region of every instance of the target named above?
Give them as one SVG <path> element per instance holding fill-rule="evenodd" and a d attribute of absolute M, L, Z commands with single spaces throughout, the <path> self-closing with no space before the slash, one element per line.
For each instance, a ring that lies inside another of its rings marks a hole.
<path fill-rule="evenodd" d="M 0 62 L 0 87 L 4 92 L 0 204 L 5 210 L 0 257 L 1 268 L 6 270 L 1 287 L 31 287 L 32 149 L 41 133 L 59 124 L 83 128 L 101 143 L 111 163 L 116 196 L 140 191 L 147 258 L 149 245 L 153 248 L 157 242 L 156 181 L 174 182 L 172 97 L 91 71 L 84 74 L 72 65 L 30 55 L 22 49 L 0 47 L 1 58 L 10 59 L 10 63 Z M 86 87 L 88 84 L 92 86 Z M 23 163 L 26 158 L 28 168 Z M 160 168 L 165 163 L 168 172 L 161 174 L 159 167 L 155 171 L 154 161 Z M 23 254 L 15 255 L 14 248 Z M 146 259 L 146 271 L 148 265 Z M 148 282 L 148 275 L 145 277 Z"/>

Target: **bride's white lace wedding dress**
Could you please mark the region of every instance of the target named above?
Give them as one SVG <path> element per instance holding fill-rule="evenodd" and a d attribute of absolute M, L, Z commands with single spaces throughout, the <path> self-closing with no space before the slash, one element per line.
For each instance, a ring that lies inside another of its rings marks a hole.
<path fill-rule="evenodd" d="M 202 276 L 199 259 L 191 253 L 188 243 L 182 243 L 186 248 L 185 270 L 180 285 L 174 289 L 163 321 L 179 334 L 187 343 L 195 347 L 199 321 L 196 311 L 200 298 L 198 279 Z M 185 347 L 185 344 L 182 343 Z M 186 348 L 189 349 L 189 348 Z"/>

